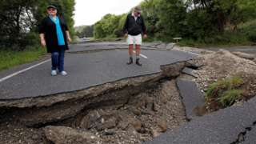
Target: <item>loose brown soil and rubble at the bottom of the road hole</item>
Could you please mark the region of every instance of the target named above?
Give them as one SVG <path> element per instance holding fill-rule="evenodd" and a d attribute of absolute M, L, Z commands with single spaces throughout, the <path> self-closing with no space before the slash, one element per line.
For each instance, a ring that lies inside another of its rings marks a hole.
<path fill-rule="evenodd" d="M 171 93 L 170 93 L 171 91 Z M 141 143 L 186 123 L 175 81 L 144 90 L 122 106 L 82 110 L 73 118 L 40 127 L 22 125 L 2 112 L 0 143 Z"/>

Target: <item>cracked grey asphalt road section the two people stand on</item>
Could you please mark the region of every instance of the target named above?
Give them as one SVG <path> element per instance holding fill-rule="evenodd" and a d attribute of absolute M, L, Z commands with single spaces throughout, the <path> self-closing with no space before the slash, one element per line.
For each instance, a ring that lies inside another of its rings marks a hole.
<path fill-rule="evenodd" d="M 72 45 L 70 46 L 71 52 L 79 51 L 81 53 L 74 54 L 69 53 L 70 51 L 66 53 L 65 70 L 68 72 L 67 76 L 50 76 L 50 61 L 45 62 L 0 82 L 0 100 L 60 94 L 83 90 L 106 82 L 115 82 L 123 78 L 156 74 L 161 71 L 160 66 L 162 65 L 182 62 L 195 57 L 194 54 L 175 50 L 142 50 L 142 54 L 147 57 L 141 58 L 143 66 L 140 67 L 135 64 L 127 66 L 127 50 L 119 50 L 117 47 L 124 48 L 127 46 L 120 42 Z M 86 50 L 98 49 L 101 51 L 83 54 Z M 26 68 L 27 66 L 21 66 L 20 70 Z M 4 75 L 2 78 L 6 77 L 6 74 L 1 75 Z"/>

